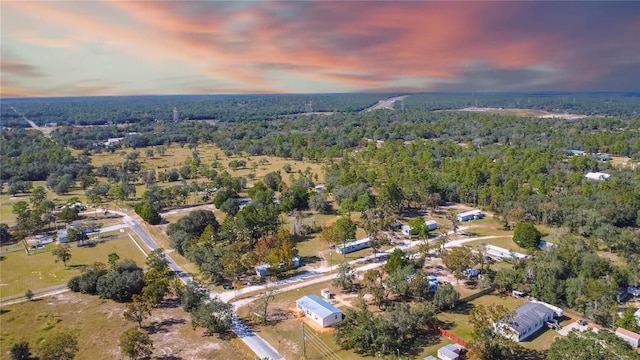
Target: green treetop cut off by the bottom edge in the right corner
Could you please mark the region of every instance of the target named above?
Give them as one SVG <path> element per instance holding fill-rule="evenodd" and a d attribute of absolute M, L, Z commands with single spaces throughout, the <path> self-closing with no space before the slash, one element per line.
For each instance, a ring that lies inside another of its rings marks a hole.
<path fill-rule="evenodd" d="M 573 329 L 551 344 L 547 360 L 637 359 L 638 354 L 614 334 Z"/>

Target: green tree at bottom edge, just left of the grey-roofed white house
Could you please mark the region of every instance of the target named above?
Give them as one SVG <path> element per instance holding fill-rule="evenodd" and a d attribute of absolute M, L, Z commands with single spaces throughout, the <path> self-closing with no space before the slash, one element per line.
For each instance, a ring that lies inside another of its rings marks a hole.
<path fill-rule="evenodd" d="M 502 360 L 511 358 L 517 348 L 517 344 L 496 332 L 495 324 L 509 322 L 513 319 L 513 313 L 507 311 L 502 305 L 478 305 L 469 313 L 469 323 L 473 326 L 471 341 L 467 347 L 472 359 Z M 504 327 L 503 331 L 510 328 Z"/>

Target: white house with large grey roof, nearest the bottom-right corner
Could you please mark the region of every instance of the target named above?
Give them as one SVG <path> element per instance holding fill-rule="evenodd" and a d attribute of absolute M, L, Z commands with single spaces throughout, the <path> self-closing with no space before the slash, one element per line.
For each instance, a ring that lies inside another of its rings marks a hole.
<path fill-rule="evenodd" d="M 497 328 L 503 336 L 520 342 L 553 320 L 556 311 L 544 303 L 528 302 L 519 306 L 515 313 L 513 319 L 498 324 Z"/>

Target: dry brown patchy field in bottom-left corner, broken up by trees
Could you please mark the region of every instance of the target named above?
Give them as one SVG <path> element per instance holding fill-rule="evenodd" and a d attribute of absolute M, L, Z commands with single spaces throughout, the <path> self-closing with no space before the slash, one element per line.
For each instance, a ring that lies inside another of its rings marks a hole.
<path fill-rule="evenodd" d="M 143 322 L 154 344 L 154 359 L 253 359 L 239 339 L 222 341 L 193 330 L 191 319 L 177 304 L 166 303 Z M 26 340 L 36 348 L 48 331 L 69 329 L 78 334 L 76 359 L 126 359 L 120 334 L 134 324 L 124 320 L 125 304 L 72 292 L 41 300 L 3 306 L 0 315 L 0 358 L 9 358 L 12 344 Z M 36 353 L 37 354 L 37 353 Z"/>

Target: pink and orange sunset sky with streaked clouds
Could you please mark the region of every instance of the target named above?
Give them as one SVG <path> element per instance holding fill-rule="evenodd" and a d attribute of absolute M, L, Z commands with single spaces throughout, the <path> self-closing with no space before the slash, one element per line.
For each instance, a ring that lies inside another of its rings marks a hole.
<path fill-rule="evenodd" d="M 0 97 L 640 91 L 640 1 L 0 2 Z"/>

